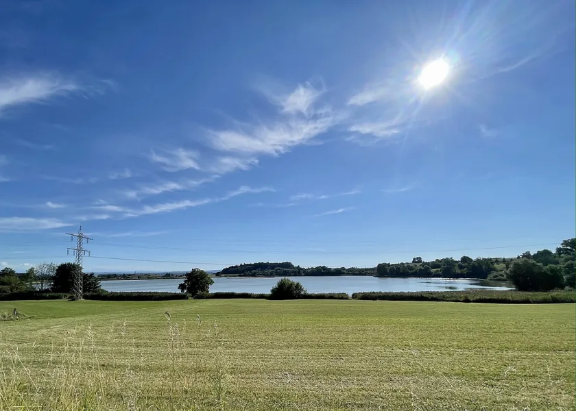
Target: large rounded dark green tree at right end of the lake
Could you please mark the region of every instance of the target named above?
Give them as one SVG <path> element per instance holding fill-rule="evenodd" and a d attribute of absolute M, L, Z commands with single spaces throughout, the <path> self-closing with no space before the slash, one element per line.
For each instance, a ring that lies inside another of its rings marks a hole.
<path fill-rule="evenodd" d="M 512 263 L 506 276 L 518 291 L 549 291 L 564 285 L 562 271 L 556 267 L 560 268 L 544 268 L 534 260 L 520 258 Z"/>

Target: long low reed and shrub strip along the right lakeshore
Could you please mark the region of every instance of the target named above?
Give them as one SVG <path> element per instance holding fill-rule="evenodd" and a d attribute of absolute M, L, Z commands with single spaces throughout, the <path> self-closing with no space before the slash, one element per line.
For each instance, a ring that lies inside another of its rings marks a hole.
<path fill-rule="evenodd" d="M 516 290 L 468 290 L 424 292 L 355 292 L 352 299 L 390 301 L 451 301 L 461 303 L 546 304 L 574 303 L 574 290 L 520 292 Z"/>

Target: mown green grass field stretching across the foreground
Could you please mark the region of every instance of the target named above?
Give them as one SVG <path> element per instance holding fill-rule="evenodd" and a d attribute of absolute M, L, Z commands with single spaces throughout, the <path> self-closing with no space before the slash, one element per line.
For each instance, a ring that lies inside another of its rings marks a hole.
<path fill-rule="evenodd" d="M 1 410 L 575 409 L 574 304 L 14 307 L 29 319 L 0 322 Z"/>

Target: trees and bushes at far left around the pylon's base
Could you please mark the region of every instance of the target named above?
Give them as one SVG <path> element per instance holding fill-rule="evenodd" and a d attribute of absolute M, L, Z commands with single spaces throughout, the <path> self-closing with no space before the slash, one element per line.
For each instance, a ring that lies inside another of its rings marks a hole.
<path fill-rule="evenodd" d="M 0 270 L 0 295 L 26 291 L 72 292 L 74 279 L 80 270 L 81 267 L 73 262 L 58 266 L 53 263 L 38 264 L 21 274 L 5 267 Z M 84 292 L 97 292 L 100 290 L 100 279 L 94 273 L 82 273 L 82 286 Z"/>

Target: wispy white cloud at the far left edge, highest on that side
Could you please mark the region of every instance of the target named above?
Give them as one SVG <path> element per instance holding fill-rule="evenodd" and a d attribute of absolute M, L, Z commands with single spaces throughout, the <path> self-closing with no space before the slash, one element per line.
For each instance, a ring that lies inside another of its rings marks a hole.
<path fill-rule="evenodd" d="M 49 73 L 35 73 L 0 79 L 0 112 L 25 103 L 40 103 L 56 95 L 80 90 L 75 82 Z"/>

